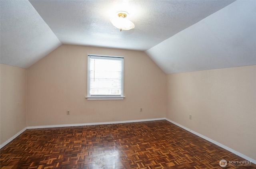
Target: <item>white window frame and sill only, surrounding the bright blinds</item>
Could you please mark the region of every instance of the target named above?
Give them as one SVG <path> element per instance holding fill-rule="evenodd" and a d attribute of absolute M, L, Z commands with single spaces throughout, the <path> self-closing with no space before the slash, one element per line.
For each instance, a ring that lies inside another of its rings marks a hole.
<path fill-rule="evenodd" d="M 100 95 L 100 96 L 91 96 L 90 94 L 90 58 L 91 57 L 102 57 L 102 59 L 111 59 L 113 58 L 122 58 L 122 89 L 121 89 L 121 95 L 120 96 L 110 96 L 110 95 Z M 105 58 L 104 58 L 105 57 Z M 87 58 L 87 100 L 123 100 L 125 98 L 124 96 L 124 57 L 122 56 L 108 56 L 108 55 L 92 55 L 88 54 Z"/>

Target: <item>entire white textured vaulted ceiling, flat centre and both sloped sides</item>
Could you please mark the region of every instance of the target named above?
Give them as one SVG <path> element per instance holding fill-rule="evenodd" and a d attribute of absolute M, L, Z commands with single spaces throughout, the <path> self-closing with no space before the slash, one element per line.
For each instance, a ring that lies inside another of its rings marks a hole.
<path fill-rule="evenodd" d="M 120 10 L 134 29 L 110 23 Z M 256 1 L 0 0 L 1 63 L 28 68 L 62 44 L 145 51 L 165 73 L 256 65 Z"/>

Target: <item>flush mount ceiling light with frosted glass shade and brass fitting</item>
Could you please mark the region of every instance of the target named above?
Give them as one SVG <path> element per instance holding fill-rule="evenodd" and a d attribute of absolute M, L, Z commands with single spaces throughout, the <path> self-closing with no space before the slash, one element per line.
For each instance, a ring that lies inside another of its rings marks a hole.
<path fill-rule="evenodd" d="M 134 24 L 126 18 L 128 15 L 125 11 L 116 12 L 116 16 L 111 18 L 110 22 L 120 31 L 133 29 Z"/>

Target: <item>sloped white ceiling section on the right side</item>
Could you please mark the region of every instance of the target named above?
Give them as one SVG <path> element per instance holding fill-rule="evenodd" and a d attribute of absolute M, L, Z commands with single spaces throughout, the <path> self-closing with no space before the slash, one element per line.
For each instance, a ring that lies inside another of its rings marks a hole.
<path fill-rule="evenodd" d="M 236 1 L 145 51 L 166 73 L 256 65 L 256 1 Z"/>

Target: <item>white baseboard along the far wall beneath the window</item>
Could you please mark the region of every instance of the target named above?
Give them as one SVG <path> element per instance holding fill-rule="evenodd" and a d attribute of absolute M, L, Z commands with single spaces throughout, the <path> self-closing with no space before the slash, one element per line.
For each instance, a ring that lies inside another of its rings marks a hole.
<path fill-rule="evenodd" d="M 134 122 L 148 122 L 155 120 L 166 120 L 166 118 L 150 118 L 141 120 L 128 120 L 128 121 L 116 121 L 116 122 L 97 122 L 97 123 L 82 123 L 82 124 L 60 124 L 60 125 L 48 125 L 48 126 L 29 126 L 28 129 L 36 128 L 55 128 L 55 127 L 73 127 L 73 126 L 92 126 L 101 124 L 117 124 L 117 123 L 134 123 Z"/>

